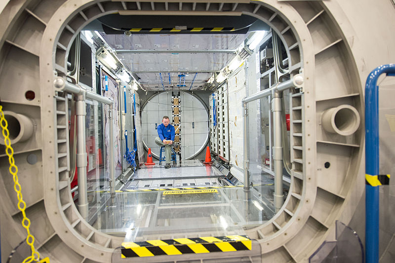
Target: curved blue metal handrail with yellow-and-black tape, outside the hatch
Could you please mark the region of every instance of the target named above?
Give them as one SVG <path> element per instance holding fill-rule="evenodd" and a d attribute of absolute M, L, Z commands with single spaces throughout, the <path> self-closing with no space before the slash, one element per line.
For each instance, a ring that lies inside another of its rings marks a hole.
<path fill-rule="evenodd" d="M 375 179 L 379 175 L 379 86 L 380 75 L 395 75 L 395 65 L 382 65 L 374 69 L 365 85 L 365 179 Z M 374 180 L 373 180 L 374 181 Z M 366 263 L 379 262 L 379 186 L 366 183 Z"/>

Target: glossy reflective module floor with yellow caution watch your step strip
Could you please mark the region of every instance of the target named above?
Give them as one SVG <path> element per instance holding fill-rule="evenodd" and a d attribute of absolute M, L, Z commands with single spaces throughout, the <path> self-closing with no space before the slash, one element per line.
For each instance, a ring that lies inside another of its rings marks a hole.
<path fill-rule="evenodd" d="M 124 235 L 125 241 L 141 241 L 243 234 L 245 227 L 274 215 L 265 198 L 273 191 L 270 178 L 260 176 L 260 184 L 244 191 L 242 186 L 220 186 L 224 175 L 215 167 L 197 161 L 187 165 L 139 169 L 122 192 L 108 198 L 94 226 Z"/>

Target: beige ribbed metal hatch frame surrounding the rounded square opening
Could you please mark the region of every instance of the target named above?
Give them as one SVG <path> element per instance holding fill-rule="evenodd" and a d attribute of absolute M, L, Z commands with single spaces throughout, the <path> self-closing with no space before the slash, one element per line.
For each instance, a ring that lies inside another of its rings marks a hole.
<path fill-rule="evenodd" d="M 64 262 L 65 259 L 70 262 L 111 262 L 115 248 L 123 238 L 100 233 L 83 220 L 74 206 L 70 194 L 70 182 L 66 178 L 67 167 L 64 170 L 64 167 L 60 166 L 61 161 L 56 155 L 59 149 L 58 144 L 63 144 L 63 141 L 58 140 L 56 123 L 57 118 L 61 118 L 64 114 L 56 113 L 57 100 L 60 102 L 61 99 L 56 98 L 58 93 L 53 89 L 51 82 L 56 75 L 67 74 L 67 50 L 76 34 L 94 19 L 122 9 L 133 14 L 154 15 L 185 14 L 185 9 L 181 8 L 180 11 L 178 6 L 172 9 L 169 5 L 171 10 L 154 10 L 152 7 L 155 2 L 152 2 L 151 7 L 139 5 L 141 10 L 127 10 L 125 2 L 65 0 L 63 4 L 62 1 L 56 1 L 57 6 L 55 3 L 52 5 L 52 2 L 47 4 L 48 2 L 45 1 L 46 12 L 35 14 L 26 9 L 29 6 L 28 3 L 29 1 L 20 3 L 11 0 L 1 12 L 5 29 L 1 32 L 1 39 L 5 39 L 5 42 L 1 43 L 1 52 L 4 56 L 0 58 L 3 65 L 0 71 L 2 76 L 7 77 L 0 79 L 0 91 L 2 102 L 6 101 L 6 106 L 13 108 L 15 112 L 39 110 L 38 116 L 34 115 L 38 123 L 36 138 L 32 138 L 23 146 L 21 144 L 14 146 L 14 154 L 18 155 L 18 160 L 21 160 L 21 167 L 29 167 L 24 163 L 26 152 L 39 152 L 38 154 L 42 157 L 42 165 L 39 163 L 37 167 L 39 171 L 37 180 L 39 181 L 34 183 L 31 181 L 32 177 L 26 174 L 29 169 L 19 171 L 21 185 L 24 185 L 29 193 L 24 194 L 28 209 L 37 212 L 34 213 L 35 216 L 39 215 L 32 217 L 31 226 L 33 228 L 33 225 L 36 225 L 37 228 L 33 232 L 42 234 L 42 238 L 37 240 L 37 246 L 43 255 L 50 255 L 59 262 Z M 44 1 L 38 3 L 44 3 Z M 272 220 L 256 228 L 248 229 L 247 233 L 258 238 L 258 247 L 262 249 L 262 257 L 268 262 L 305 261 L 333 230 L 333 222 L 341 215 L 348 217 L 342 214 L 343 210 L 350 208 L 349 214 L 355 211 L 355 207 L 351 207 L 349 203 L 352 203 L 351 197 L 354 197 L 352 190 L 355 189 L 354 183 L 356 176 L 359 175 L 358 167 L 363 160 L 362 136 L 359 136 L 358 131 L 352 138 L 353 144 L 343 143 L 342 138 L 338 139 L 340 143 L 330 140 L 319 128 L 317 116 L 325 110 L 328 104 L 333 105 L 343 100 L 356 105 L 357 110 L 360 111 L 363 106 L 363 93 L 361 92 L 360 72 L 355 61 L 362 61 L 362 51 L 350 45 L 348 38 L 345 37 L 347 34 L 354 37 L 355 33 L 350 22 L 339 15 L 339 13 L 343 15 L 344 13 L 336 1 L 300 1 L 300 5 L 292 6 L 287 1 L 237 0 L 224 3 L 224 6 L 232 10 L 226 12 L 210 3 L 211 1 L 205 2 L 207 11 L 197 11 L 196 3 L 193 2 L 184 2 L 183 6 L 191 7 L 190 13 L 207 15 L 244 13 L 263 20 L 276 31 L 287 48 L 292 47 L 289 57 L 290 71 L 295 73 L 303 69 L 306 79 L 303 87 L 304 93 L 297 94 L 295 98 L 305 103 L 302 104 L 303 111 L 302 106 L 297 106 L 300 109 L 293 110 L 302 115 L 300 119 L 302 127 L 299 127 L 301 132 L 296 131 L 295 125 L 293 136 L 303 142 L 303 152 L 299 150 L 299 156 L 295 155 L 294 158 L 295 163 L 301 164 L 303 170 L 293 170 L 291 177 L 293 191 L 288 195 L 283 208 Z M 193 6 L 195 7 L 192 8 Z M 310 17 L 305 16 L 305 10 L 310 11 Z M 12 19 L 9 19 L 10 15 Z M 338 23 L 336 19 L 341 21 Z M 25 34 L 24 36 L 30 37 L 31 41 L 26 41 L 26 38 L 21 38 L 22 40 L 15 38 L 15 32 L 23 35 L 24 30 L 40 34 Z M 313 41 L 313 37 L 314 40 L 318 38 L 318 41 Z M 360 41 L 356 40 L 353 44 L 354 46 L 360 45 Z M 331 58 L 337 58 L 339 63 L 331 65 L 332 70 L 337 70 L 333 71 L 336 77 L 331 79 L 336 85 L 328 86 L 322 78 L 318 78 L 321 75 L 316 75 L 316 72 L 326 65 L 326 60 Z M 25 71 L 32 74 L 25 74 L 23 77 L 16 75 Z M 339 72 L 343 72 L 344 75 Z M 320 85 L 316 85 L 316 80 L 320 80 Z M 25 91 L 28 81 L 34 81 L 32 89 L 40 95 L 32 102 L 20 96 Z M 9 92 L 9 90 L 14 92 Z M 342 91 L 345 93 L 341 93 Z M 15 93 L 18 95 L 15 96 Z M 33 114 L 33 111 L 31 113 Z M 339 168 L 340 163 L 335 154 L 344 149 L 351 152 L 342 160 L 349 164 L 348 169 L 331 174 L 339 181 L 344 179 L 345 183 L 342 186 L 331 185 L 328 179 L 325 179 L 329 178 L 330 170 L 316 170 L 320 165 L 318 161 L 325 157 L 323 152 L 326 149 L 333 153 L 329 157 L 332 166 L 338 165 Z M 42 182 L 42 184 L 37 184 L 37 182 Z M 11 188 L 10 182 L 3 180 L 1 183 L 4 191 Z M 329 185 L 331 188 L 328 188 Z M 319 202 L 322 200 L 329 201 L 323 205 Z M 4 216 L 7 217 L 8 229 L 19 229 L 20 226 L 16 225 L 15 219 L 20 214 L 15 210 L 15 201 L 2 198 L 1 203 L 3 204 L 2 210 L 6 212 Z M 48 227 L 42 226 L 42 222 L 45 222 L 45 226 Z M 8 229 L 6 231 L 10 233 L 11 230 Z M 13 230 L 12 233 L 13 235 L 9 236 L 10 240 L 14 243 L 17 239 L 21 240 L 20 231 Z M 223 258 L 224 255 L 228 254 L 219 254 L 218 257 Z M 190 255 L 185 258 L 181 256 L 177 259 L 207 259 L 208 256 L 211 255 Z M 143 260 L 146 261 L 146 259 Z M 158 258 L 149 260 L 158 261 Z"/>

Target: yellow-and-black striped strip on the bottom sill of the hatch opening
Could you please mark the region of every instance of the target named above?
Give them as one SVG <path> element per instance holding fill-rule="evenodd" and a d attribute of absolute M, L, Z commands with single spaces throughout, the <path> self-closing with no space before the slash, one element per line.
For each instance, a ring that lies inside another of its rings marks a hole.
<path fill-rule="evenodd" d="M 251 239 L 246 235 L 208 236 L 123 242 L 121 258 L 153 257 L 160 255 L 200 254 L 251 250 Z"/>

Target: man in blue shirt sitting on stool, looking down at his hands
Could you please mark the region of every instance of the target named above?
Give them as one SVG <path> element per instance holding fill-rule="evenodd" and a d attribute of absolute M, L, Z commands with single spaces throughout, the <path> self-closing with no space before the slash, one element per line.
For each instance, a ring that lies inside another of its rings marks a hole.
<path fill-rule="evenodd" d="M 155 138 L 155 143 L 158 146 L 164 146 L 164 150 L 166 153 L 166 164 L 164 168 L 170 168 L 170 160 L 171 160 L 171 145 L 174 142 L 175 130 L 174 126 L 171 125 L 170 119 L 168 116 L 163 116 L 162 124 L 158 125 L 158 136 Z"/>

